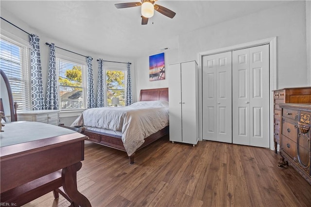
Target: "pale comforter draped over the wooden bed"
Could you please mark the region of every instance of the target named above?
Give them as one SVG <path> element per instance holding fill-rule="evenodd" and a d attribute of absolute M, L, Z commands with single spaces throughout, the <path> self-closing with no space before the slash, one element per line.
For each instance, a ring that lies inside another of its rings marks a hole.
<path fill-rule="evenodd" d="M 85 110 L 71 126 L 91 126 L 122 132 L 127 155 L 144 143 L 144 138 L 169 125 L 167 101 L 137 102 L 130 106 Z"/>

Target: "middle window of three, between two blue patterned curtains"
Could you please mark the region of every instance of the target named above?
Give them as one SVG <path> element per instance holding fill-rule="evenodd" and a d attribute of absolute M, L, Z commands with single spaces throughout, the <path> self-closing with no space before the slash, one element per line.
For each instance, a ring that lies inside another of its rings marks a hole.
<path fill-rule="evenodd" d="M 85 65 L 56 59 L 59 84 L 60 109 L 85 109 Z"/>

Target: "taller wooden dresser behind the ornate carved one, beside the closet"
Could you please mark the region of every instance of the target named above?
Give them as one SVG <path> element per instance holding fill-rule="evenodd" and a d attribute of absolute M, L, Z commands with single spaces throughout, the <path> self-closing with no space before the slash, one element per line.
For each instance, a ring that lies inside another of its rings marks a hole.
<path fill-rule="evenodd" d="M 281 108 L 279 103 L 311 103 L 311 87 L 293 87 L 274 90 L 274 142 L 275 154 L 280 144 Z"/>

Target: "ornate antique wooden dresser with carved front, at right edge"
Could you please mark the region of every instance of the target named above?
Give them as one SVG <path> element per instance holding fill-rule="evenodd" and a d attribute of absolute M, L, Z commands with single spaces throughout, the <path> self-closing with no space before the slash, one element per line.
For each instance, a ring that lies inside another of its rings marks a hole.
<path fill-rule="evenodd" d="M 291 165 L 311 184 L 311 104 L 280 103 L 280 155 L 278 167 Z"/>

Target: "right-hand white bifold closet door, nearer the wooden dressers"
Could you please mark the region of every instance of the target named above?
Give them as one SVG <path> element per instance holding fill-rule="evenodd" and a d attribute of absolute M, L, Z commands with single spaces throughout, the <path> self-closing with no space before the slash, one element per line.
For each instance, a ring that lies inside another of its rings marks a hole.
<path fill-rule="evenodd" d="M 232 142 L 269 147 L 269 45 L 232 52 Z"/>

